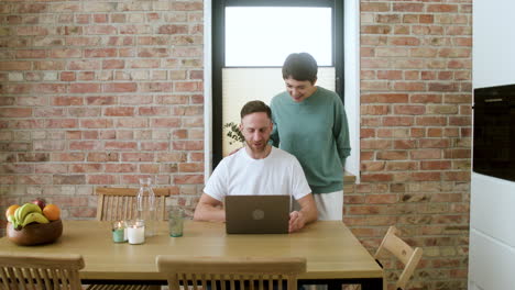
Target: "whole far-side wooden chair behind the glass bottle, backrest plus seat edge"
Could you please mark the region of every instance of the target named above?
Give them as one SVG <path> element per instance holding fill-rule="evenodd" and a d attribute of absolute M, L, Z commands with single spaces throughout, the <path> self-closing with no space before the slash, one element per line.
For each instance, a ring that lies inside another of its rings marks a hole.
<path fill-rule="evenodd" d="M 165 220 L 166 197 L 169 196 L 167 188 L 153 188 L 155 194 L 156 217 Z M 98 221 L 121 221 L 136 217 L 136 188 L 96 188 L 98 196 L 97 220 Z M 87 290 L 156 290 L 160 286 L 154 285 L 90 285 Z"/>

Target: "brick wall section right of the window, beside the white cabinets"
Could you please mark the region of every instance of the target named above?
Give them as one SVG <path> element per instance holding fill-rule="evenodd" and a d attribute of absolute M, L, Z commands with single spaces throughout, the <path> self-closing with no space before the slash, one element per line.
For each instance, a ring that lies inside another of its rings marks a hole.
<path fill-rule="evenodd" d="M 471 0 L 361 1 L 362 183 L 344 221 L 371 249 L 391 224 L 424 247 L 410 289 L 467 289 L 471 12 Z"/>

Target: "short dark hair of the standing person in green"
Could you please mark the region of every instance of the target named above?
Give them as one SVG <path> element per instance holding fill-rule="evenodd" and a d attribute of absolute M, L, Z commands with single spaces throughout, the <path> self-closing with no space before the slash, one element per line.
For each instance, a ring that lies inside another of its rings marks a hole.
<path fill-rule="evenodd" d="M 295 80 L 309 80 L 315 83 L 317 72 L 317 60 L 308 53 L 291 54 L 284 60 L 283 79 L 292 77 Z"/>

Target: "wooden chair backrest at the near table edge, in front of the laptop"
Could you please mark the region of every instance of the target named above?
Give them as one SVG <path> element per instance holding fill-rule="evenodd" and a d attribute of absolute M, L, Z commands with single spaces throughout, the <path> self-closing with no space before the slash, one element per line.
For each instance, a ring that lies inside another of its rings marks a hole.
<path fill-rule="evenodd" d="M 297 276 L 306 272 L 305 258 L 157 256 L 171 290 L 190 285 L 194 290 L 297 290 Z M 235 288 L 237 287 L 237 288 Z"/>

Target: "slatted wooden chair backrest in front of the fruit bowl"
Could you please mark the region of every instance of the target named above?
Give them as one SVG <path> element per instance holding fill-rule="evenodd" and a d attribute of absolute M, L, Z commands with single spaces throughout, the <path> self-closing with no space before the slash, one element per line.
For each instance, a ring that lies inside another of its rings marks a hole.
<path fill-rule="evenodd" d="M 83 268 L 80 255 L 0 253 L 0 289 L 81 290 Z"/>

